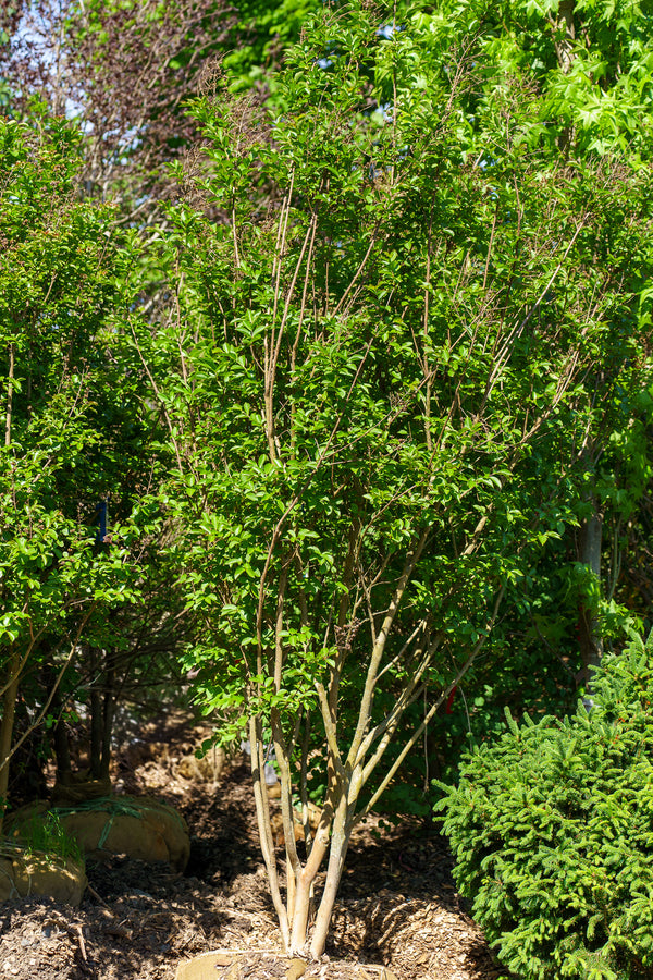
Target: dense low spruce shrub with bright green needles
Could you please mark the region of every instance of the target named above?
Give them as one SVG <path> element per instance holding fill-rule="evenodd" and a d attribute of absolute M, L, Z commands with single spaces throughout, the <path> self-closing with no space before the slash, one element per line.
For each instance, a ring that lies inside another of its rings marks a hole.
<path fill-rule="evenodd" d="M 517 976 L 653 978 L 653 632 L 606 656 L 593 706 L 517 724 L 436 809 L 460 893 Z"/>

